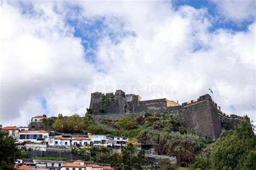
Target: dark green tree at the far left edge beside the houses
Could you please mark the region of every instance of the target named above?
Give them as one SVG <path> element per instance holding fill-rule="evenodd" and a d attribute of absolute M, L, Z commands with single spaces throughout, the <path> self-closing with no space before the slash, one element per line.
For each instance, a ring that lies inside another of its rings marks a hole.
<path fill-rule="evenodd" d="M 21 157 L 15 140 L 7 133 L 0 131 L 0 169 L 14 169 L 16 159 Z"/>

